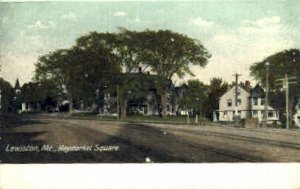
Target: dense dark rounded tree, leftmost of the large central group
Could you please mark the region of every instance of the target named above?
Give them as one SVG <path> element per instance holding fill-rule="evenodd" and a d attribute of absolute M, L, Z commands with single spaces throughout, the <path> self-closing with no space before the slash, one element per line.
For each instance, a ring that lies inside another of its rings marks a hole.
<path fill-rule="evenodd" d="M 74 99 L 95 100 L 95 92 L 99 85 L 109 83 L 120 73 L 116 56 L 107 45 L 96 41 L 99 42 L 98 46 L 89 47 L 91 44 L 88 41 L 85 37 L 79 38 L 73 48 L 60 49 L 44 55 L 36 65 L 36 80 L 53 80 L 66 92 L 70 112 Z"/>

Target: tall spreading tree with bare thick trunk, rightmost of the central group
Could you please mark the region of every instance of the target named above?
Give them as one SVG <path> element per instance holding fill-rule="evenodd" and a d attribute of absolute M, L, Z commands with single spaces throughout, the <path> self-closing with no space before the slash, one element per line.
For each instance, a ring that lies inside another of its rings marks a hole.
<path fill-rule="evenodd" d="M 170 81 L 177 75 L 193 75 L 191 66 L 205 66 L 210 54 L 200 41 L 169 30 L 142 32 L 125 30 L 135 59 L 156 74 L 156 88 L 161 97 L 162 117 L 167 116 L 167 93 Z"/>

